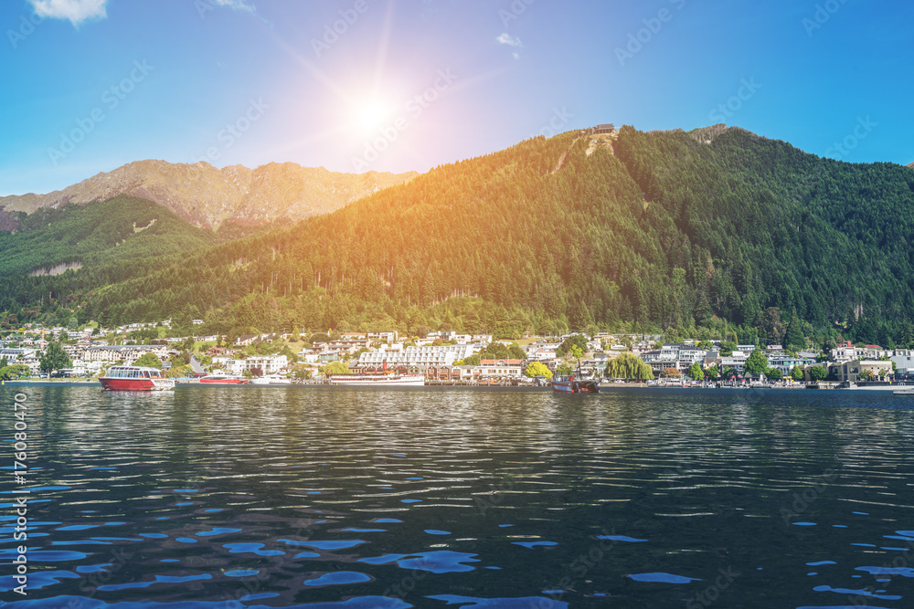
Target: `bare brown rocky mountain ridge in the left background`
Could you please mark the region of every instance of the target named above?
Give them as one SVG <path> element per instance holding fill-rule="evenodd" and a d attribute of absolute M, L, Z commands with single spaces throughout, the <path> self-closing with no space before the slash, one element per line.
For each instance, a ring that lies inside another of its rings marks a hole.
<path fill-rule="evenodd" d="M 0 229 L 15 227 L 15 212 L 85 205 L 118 194 L 149 199 L 205 228 L 225 223 L 257 226 L 326 214 L 416 175 L 334 173 L 295 163 L 269 163 L 252 170 L 243 165 L 217 169 L 205 162 L 138 161 L 53 193 L 0 197 Z"/>

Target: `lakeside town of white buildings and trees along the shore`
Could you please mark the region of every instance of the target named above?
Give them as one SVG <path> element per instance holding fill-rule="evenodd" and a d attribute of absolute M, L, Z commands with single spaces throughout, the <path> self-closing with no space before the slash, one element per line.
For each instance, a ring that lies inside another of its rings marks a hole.
<path fill-rule="evenodd" d="M 191 329 L 201 328 L 193 320 Z M 175 336 L 171 320 L 105 329 L 29 326 L 5 331 L 0 378 L 94 380 L 114 365 L 152 365 L 178 382 L 210 373 L 324 383 L 331 374 L 421 375 L 425 384 L 548 384 L 582 373 L 615 382 L 683 385 L 798 386 L 906 382 L 914 350 L 838 341 L 827 351 L 717 340 L 661 341 L 661 335 L 570 332 L 494 340 L 491 334 L 398 331 L 242 336 Z"/>

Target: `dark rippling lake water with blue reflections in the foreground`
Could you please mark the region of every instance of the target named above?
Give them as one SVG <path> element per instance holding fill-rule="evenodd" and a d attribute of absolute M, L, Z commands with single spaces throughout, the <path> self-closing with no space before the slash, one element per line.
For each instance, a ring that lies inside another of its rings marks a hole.
<path fill-rule="evenodd" d="M 914 606 L 914 398 L 7 385 L 0 404 L 11 607 Z"/>

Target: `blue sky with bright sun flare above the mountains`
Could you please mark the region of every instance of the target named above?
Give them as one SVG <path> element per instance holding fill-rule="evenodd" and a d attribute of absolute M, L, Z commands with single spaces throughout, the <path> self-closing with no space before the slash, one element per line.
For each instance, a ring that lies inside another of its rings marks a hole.
<path fill-rule="evenodd" d="M 4 0 L 0 195 L 132 161 L 416 170 L 600 122 L 914 161 L 914 5 Z"/>

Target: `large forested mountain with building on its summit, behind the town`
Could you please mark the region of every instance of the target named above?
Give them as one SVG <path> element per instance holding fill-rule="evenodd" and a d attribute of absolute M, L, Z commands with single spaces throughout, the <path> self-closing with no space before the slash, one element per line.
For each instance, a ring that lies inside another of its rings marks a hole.
<path fill-rule="evenodd" d="M 34 319 L 178 311 L 207 331 L 611 328 L 914 344 L 914 174 L 739 128 L 569 132 L 335 213 L 169 257 L 0 285 Z M 75 294 L 70 302 L 37 295 Z"/>

